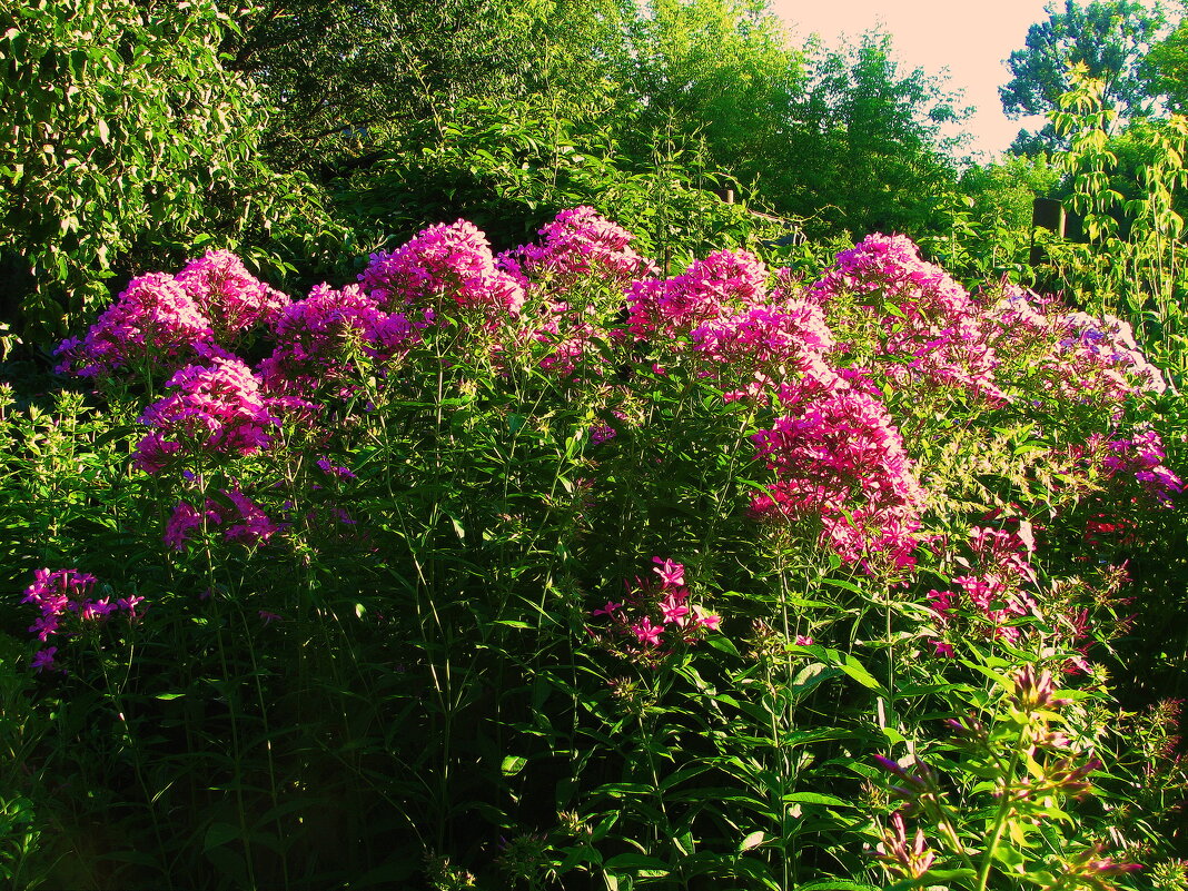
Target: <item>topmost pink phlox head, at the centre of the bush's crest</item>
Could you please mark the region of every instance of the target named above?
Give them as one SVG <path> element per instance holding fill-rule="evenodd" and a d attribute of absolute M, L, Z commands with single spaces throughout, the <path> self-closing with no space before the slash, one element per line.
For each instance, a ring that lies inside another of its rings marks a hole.
<path fill-rule="evenodd" d="M 656 264 L 628 246 L 634 236 L 592 207 L 562 210 L 541 235 L 539 245 L 524 245 L 497 258 L 499 268 L 525 290 L 532 280 L 544 279 L 551 292 L 563 293 L 592 274 L 605 285 L 623 287 L 657 272 Z"/>

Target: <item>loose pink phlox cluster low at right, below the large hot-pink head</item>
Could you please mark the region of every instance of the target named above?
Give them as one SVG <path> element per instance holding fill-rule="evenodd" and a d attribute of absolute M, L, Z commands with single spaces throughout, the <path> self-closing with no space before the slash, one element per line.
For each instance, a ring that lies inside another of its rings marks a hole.
<path fill-rule="evenodd" d="M 1042 618 L 1035 594 L 1026 590 L 1036 584 L 1029 543 L 1016 532 L 974 526 L 969 549 L 969 571 L 953 579 L 958 589 L 930 590 L 929 606 L 942 626 L 954 623 L 962 607 L 972 607 L 984 623 L 984 633 L 1013 643 L 1019 638 L 1016 620 Z M 952 657 L 953 645 L 937 640 L 936 652 Z"/>

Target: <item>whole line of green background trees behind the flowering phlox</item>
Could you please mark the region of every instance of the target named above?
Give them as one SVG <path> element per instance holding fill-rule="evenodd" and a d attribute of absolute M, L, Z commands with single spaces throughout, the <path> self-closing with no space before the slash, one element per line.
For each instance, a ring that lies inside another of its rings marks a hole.
<path fill-rule="evenodd" d="M 1133 144 L 1188 101 L 1176 19 L 1050 6 L 1004 108 L 1056 109 L 1081 63 L 1117 112 L 1110 175 L 1137 191 Z M 800 42 L 762 0 L 0 0 L 0 68 L 2 311 L 32 336 L 206 245 L 299 287 L 426 223 L 499 220 L 505 247 L 575 203 L 674 261 L 694 248 L 677 232 L 895 230 L 959 271 L 1023 274 L 1031 198 L 1072 194 L 1050 125 L 972 163 L 946 127 L 968 109 L 891 36 Z"/>

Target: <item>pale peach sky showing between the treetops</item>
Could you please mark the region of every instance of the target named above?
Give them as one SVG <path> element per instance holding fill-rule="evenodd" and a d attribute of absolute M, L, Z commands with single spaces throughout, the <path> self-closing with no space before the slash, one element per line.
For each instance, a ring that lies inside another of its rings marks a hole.
<path fill-rule="evenodd" d="M 819 33 L 827 46 L 841 34 L 858 38 L 881 25 L 893 38 L 904 74 L 923 68 L 941 74 L 948 68 L 949 87 L 965 94 L 977 110 L 966 128 L 972 151 L 1005 151 L 1019 127 L 1036 129 L 1043 118 L 1007 120 L 998 88 L 1010 74 L 1004 64 L 1012 50 L 1023 49 L 1028 29 L 1048 18 L 1048 0 L 771 0 L 800 38 Z M 1062 0 L 1057 4 L 1063 10 Z"/>

